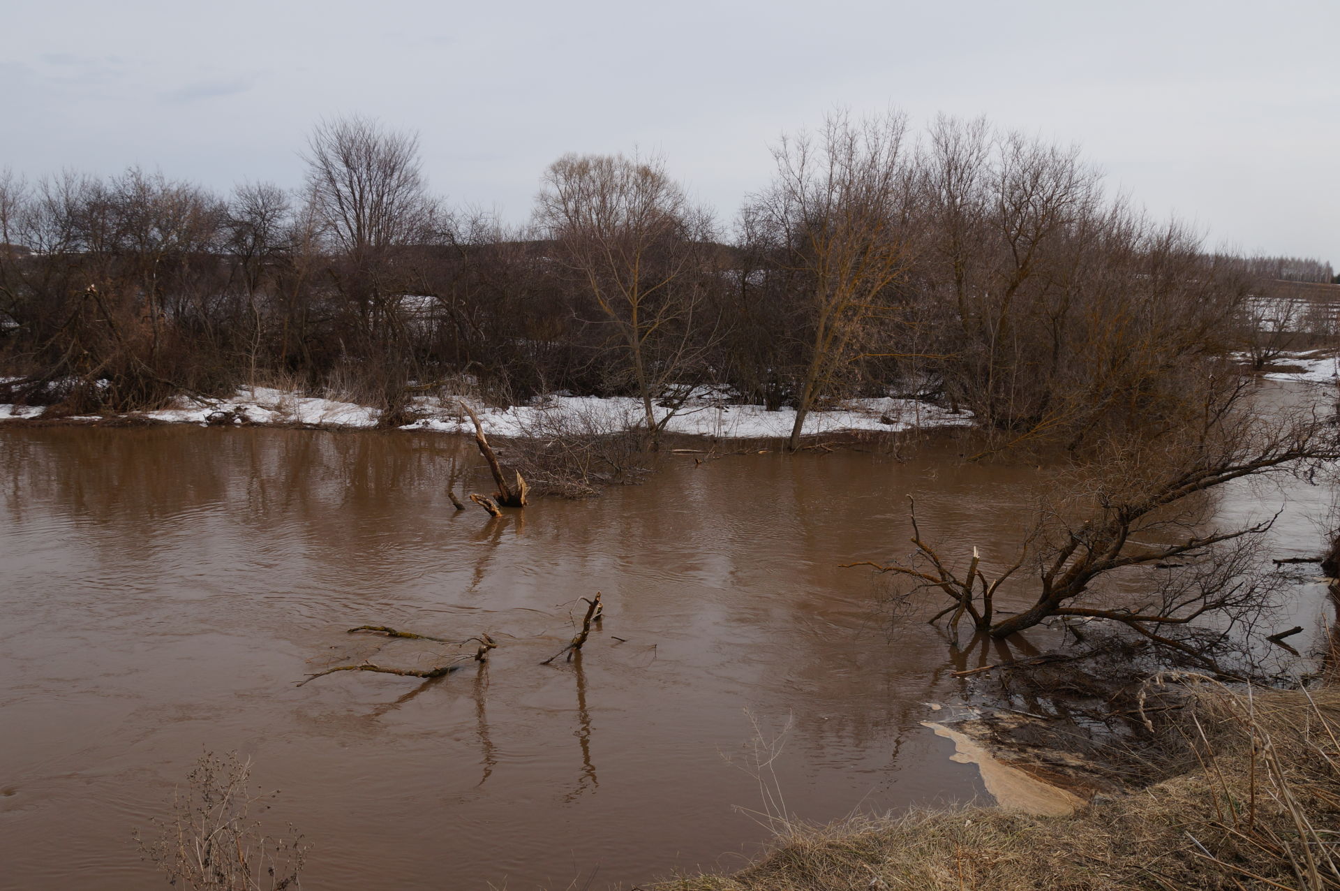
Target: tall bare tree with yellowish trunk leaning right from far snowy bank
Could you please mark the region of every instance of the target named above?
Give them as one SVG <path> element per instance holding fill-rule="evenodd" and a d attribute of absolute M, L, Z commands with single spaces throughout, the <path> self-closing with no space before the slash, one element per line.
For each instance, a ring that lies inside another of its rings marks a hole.
<path fill-rule="evenodd" d="M 817 137 L 783 137 L 772 184 L 744 209 L 746 237 L 772 257 L 800 327 L 791 449 L 815 402 L 870 355 L 880 328 L 896 324 L 895 291 L 913 256 L 904 131 L 895 113 L 859 122 L 832 114 Z"/>

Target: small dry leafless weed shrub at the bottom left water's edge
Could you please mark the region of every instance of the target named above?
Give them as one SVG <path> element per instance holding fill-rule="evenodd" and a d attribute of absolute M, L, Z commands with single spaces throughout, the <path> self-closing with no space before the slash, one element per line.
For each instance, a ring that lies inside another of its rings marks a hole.
<path fill-rule="evenodd" d="M 186 789 L 173 795 L 172 816 L 153 820 L 158 837 L 145 840 L 135 831 L 141 856 L 158 866 L 170 884 L 194 891 L 302 887 L 303 836 L 292 827 L 279 837 L 261 831 L 251 809 L 279 793 L 253 792 L 249 780 L 251 761 L 237 753 L 202 754 L 186 776 Z"/>

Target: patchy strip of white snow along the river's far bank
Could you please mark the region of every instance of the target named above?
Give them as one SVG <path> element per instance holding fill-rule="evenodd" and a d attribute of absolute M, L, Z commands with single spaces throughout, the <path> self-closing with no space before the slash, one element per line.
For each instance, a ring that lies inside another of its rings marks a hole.
<path fill-rule="evenodd" d="M 485 433 L 498 437 L 552 437 L 561 434 L 618 433 L 641 426 L 642 403 L 627 397 L 552 395 L 532 405 L 497 409 L 466 399 L 480 417 Z M 458 398 L 421 397 L 414 401 L 419 419 L 405 430 L 470 433 L 473 426 L 460 407 Z M 665 409 L 657 409 L 658 419 Z M 0 405 L 0 419 L 34 418 L 40 407 Z M 259 423 L 302 425 L 318 427 L 373 427 L 379 411 L 352 402 L 304 397 L 265 387 L 243 389 L 232 399 L 181 398 L 170 409 L 147 411 L 146 417 L 173 423 Z M 88 418 L 96 419 L 96 418 Z M 728 405 L 706 391 L 691 401 L 666 429 L 671 433 L 729 439 L 783 438 L 791 435 L 796 422 L 793 409 L 766 411 L 757 405 Z M 950 414 L 938 406 L 915 399 L 851 399 L 838 409 L 811 411 L 805 418 L 807 434 L 844 430 L 911 430 L 923 427 L 963 426 L 972 423 L 967 413 Z"/>

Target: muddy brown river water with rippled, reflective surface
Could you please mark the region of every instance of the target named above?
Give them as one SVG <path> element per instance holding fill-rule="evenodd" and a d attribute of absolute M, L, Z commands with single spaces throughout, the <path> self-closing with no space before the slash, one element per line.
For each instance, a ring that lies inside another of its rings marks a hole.
<path fill-rule="evenodd" d="M 445 493 L 453 461 L 477 462 L 468 445 L 0 430 L 0 887 L 157 887 L 131 829 L 166 815 L 205 749 L 281 791 L 265 820 L 304 833 L 304 886 L 323 891 L 737 868 L 769 835 L 744 769 L 756 725 L 789 725 L 764 781 L 805 820 L 985 797 L 922 722 L 962 689 L 954 670 L 994 654 L 890 624 L 870 573 L 838 564 L 906 551 L 907 493 L 923 529 L 1004 553 L 1036 470 L 962 466 L 943 443 L 906 462 L 685 456 L 489 521 Z M 1280 548 L 1304 553 L 1324 497 L 1293 497 Z M 1272 498 L 1244 489 L 1225 512 Z M 582 658 L 539 665 L 595 591 L 607 612 Z M 364 623 L 500 647 L 430 682 L 295 686 L 441 651 L 346 634 Z"/>

